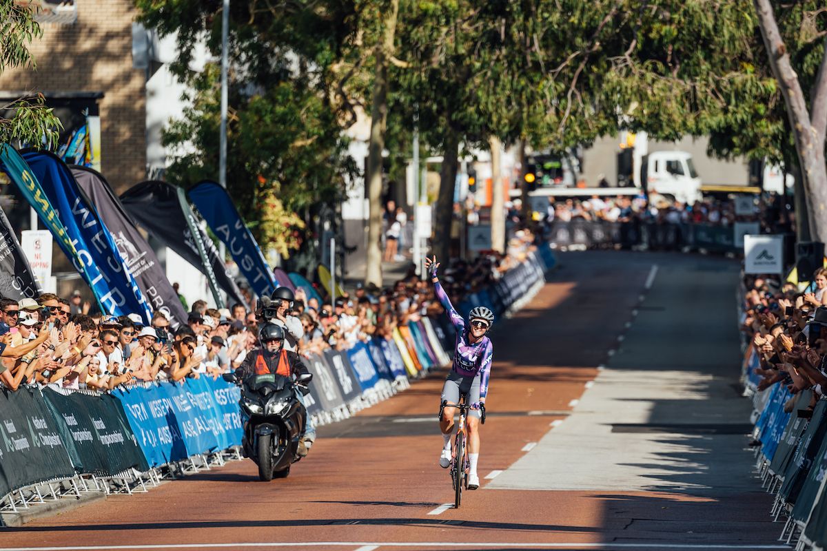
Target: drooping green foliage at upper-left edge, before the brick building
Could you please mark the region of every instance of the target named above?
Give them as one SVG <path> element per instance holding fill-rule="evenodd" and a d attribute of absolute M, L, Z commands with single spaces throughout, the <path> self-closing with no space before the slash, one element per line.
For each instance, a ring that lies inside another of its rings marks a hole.
<path fill-rule="evenodd" d="M 13 67 L 35 69 L 35 59 L 28 46 L 31 40 L 43 34 L 35 21 L 37 9 L 34 3 L 0 0 L 0 74 Z M 7 112 L 12 115 L 3 115 Z M 0 143 L 21 141 L 54 147 L 61 128 L 60 121 L 50 107 L 45 106 L 45 98 L 40 93 L 0 106 Z"/>

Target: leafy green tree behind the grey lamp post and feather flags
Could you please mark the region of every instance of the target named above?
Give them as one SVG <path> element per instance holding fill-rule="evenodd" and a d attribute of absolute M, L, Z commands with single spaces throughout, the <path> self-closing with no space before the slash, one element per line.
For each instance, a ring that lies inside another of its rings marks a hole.
<path fill-rule="evenodd" d="M 164 137 L 178 146 L 168 178 L 182 186 L 218 174 L 218 64 L 200 71 L 191 64 L 202 43 L 220 54 L 221 5 L 136 0 L 146 26 L 175 34 L 180 55 L 172 69 L 192 90 L 191 107 Z M 356 120 L 349 88 L 360 86 L 358 21 L 353 2 L 232 2 L 227 188 L 265 247 L 308 244 L 319 209 L 341 202 L 356 177 L 342 130 Z"/>

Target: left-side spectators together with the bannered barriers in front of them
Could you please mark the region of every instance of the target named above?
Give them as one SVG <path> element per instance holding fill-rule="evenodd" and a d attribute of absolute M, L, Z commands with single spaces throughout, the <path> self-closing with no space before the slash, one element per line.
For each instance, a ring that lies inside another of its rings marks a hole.
<path fill-rule="evenodd" d="M 504 316 L 543 284 L 555 264 L 552 251 L 532 245 L 527 232 L 522 236 L 509 243 L 504 257 L 450 263 L 447 284 L 460 308 L 485 304 Z M 414 276 L 390 290 L 359 289 L 332 306 L 297 298 L 292 313 L 304 322 L 298 349 L 313 373 L 306 405 L 315 425 L 350 416 L 450 363 L 453 328 L 432 295 Z M 163 316 L 136 330 L 127 316 L 101 318 L 98 325 L 71 313 L 71 306 L 82 305 L 51 296 L 36 307 L 2 304 L 0 348 L 25 351 L 2 357 L 2 511 L 84 492 L 146 491 L 161 477 L 240 457 L 240 392 L 218 375 L 240 363 L 254 344 L 252 312 L 225 312 L 240 318 L 232 321 L 219 312 L 212 320 L 216 312 L 198 315 L 196 304 L 189 327 L 173 335 Z M 26 311 L 22 324 L 15 310 Z M 95 340 L 108 341 L 109 348 L 98 352 L 90 347 Z M 241 340 L 231 352 L 232 341 Z M 20 348 L 29 343 L 31 349 Z M 201 356 L 198 348 L 205 344 L 210 348 Z M 222 353 L 226 359 L 219 358 Z"/>

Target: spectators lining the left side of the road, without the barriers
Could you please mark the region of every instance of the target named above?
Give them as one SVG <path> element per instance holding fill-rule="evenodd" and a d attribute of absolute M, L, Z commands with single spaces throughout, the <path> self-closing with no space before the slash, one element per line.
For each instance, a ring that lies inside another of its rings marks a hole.
<path fill-rule="evenodd" d="M 505 254 L 454 259 L 443 285 L 459 302 L 494 283 L 526 259 L 534 236 L 517 232 Z M 284 298 L 282 298 L 284 297 Z M 193 303 L 186 324 L 173 326 L 162 311 L 150 324 L 137 313 L 104 316 L 82 304 L 79 292 L 68 300 L 52 293 L 20 301 L 0 298 L 0 385 L 24 384 L 107 391 L 120 385 L 184 378 L 218 378 L 234 370 L 258 345 L 262 306 L 234 304 L 215 309 Z M 420 316 L 442 312 L 433 287 L 409 272 L 392 287 L 357 285 L 355 292 L 319 303 L 303 289 L 277 292 L 269 318 L 283 325 L 285 348 L 299 354 L 347 349 L 375 336 L 392 339 L 394 329 Z"/>

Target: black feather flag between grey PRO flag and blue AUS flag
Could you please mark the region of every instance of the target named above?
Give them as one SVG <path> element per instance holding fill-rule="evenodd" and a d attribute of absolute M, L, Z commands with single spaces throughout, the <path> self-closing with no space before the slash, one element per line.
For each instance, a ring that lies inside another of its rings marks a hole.
<path fill-rule="evenodd" d="M 123 192 L 121 202 L 139 226 L 198 268 L 210 282 L 214 279 L 233 301 L 246 304 L 241 290 L 218 258 L 213 240 L 198 227 L 193 234 L 192 227 L 195 225 L 189 224 L 190 217 L 182 208 L 186 206 L 190 211 L 189 205 L 186 201 L 182 205 L 178 190 L 173 185 L 158 181 L 141 182 Z M 206 260 L 199 253 L 199 242 L 203 245 Z"/>

